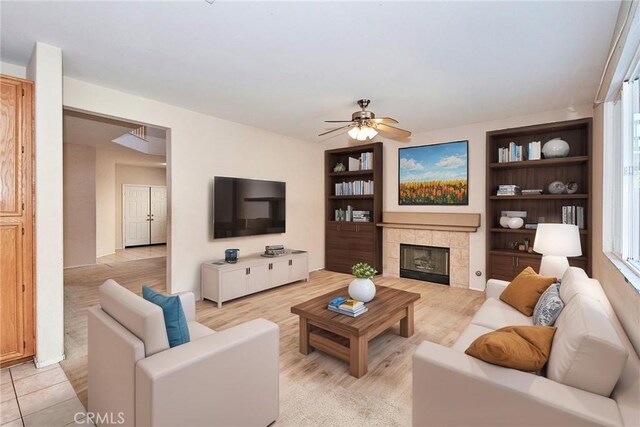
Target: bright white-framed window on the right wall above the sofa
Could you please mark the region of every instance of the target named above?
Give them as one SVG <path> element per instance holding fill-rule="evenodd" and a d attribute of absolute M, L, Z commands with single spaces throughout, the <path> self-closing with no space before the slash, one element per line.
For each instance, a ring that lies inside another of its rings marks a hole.
<path fill-rule="evenodd" d="M 612 111 L 612 250 L 640 275 L 640 73 L 624 82 Z"/>

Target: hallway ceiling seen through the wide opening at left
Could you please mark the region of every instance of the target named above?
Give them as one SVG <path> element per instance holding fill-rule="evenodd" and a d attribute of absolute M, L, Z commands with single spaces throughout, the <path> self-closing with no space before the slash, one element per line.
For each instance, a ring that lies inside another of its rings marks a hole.
<path fill-rule="evenodd" d="M 112 152 L 116 164 L 147 167 L 165 167 L 164 156 L 151 156 L 112 142 L 139 125 L 98 117 L 72 110 L 64 110 L 63 142 L 94 147 Z M 147 128 L 148 138 L 164 141 L 165 131 Z"/>

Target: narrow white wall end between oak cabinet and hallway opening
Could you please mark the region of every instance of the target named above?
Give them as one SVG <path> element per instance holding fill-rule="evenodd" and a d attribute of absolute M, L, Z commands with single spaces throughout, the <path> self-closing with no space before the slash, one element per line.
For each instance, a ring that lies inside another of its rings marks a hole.
<path fill-rule="evenodd" d="M 36 43 L 35 81 L 36 365 L 64 359 L 62 212 L 62 51 Z"/>

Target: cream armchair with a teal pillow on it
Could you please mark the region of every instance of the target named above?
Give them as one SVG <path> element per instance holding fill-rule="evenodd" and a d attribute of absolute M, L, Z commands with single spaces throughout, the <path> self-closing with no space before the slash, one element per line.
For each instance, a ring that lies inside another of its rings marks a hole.
<path fill-rule="evenodd" d="M 107 280 L 89 310 L 97 425 L 267 426 L 278 417 L 279 331 L 264 319 L 215 332 L 180 294 L 191 341 L 169 348 L 162 309 Z"/>

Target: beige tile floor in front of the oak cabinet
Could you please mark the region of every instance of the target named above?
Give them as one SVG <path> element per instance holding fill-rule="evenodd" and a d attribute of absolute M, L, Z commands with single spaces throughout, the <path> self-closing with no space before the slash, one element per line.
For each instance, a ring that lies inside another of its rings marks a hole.
<path fill-rule="evenodd" d="M 59 364 L 36 369 L 33 362 L 0 370 L 2 427 L 93 426 Z"/>

